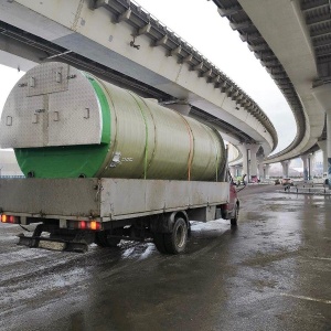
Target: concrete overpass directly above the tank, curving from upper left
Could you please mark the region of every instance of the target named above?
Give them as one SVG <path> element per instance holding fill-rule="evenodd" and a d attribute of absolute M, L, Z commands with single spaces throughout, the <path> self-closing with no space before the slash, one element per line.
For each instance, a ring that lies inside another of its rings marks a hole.
<path fill-rule="evenodd" d="M 1 0 L 0 31 L 2 52 L 28 65 L 61 60 L 213 124 L 234 145 L 257 146 L 264 154 L 277 146 L 258 105 L 132 1 Z"/>

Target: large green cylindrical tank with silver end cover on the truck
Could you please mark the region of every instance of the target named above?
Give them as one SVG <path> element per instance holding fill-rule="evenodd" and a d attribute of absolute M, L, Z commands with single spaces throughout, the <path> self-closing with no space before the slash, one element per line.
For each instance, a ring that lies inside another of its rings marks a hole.
<path fill-rule="evenodd" d="M 14 86 L 0 143 L 36 178 L 212 181 L 225 164 L 215 129 L 58 62 Z"/>

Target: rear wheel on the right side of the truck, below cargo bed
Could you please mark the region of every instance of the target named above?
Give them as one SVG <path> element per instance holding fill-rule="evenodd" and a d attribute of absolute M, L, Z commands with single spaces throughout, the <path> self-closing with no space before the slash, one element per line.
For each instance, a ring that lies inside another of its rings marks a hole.
<path fill-rule="evenodd" d="M 184 218 L 174 221 L 172 233 L 164 234 L 164 246 L 168 254 L 180 254 L 188 243 L 188 225 Z"/>

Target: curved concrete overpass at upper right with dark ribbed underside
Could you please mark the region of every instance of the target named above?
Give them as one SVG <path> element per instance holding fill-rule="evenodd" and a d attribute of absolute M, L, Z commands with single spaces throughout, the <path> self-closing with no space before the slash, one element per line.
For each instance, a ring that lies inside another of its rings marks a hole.
<path fill-rule="evenodd" d="M 308 153 L 320 147 L 324 152 L 327 149 L 325 113 L 331 111 L 330 1 L 214 0 L 214 3 L 270 73 L 296 118 L 295 140 L 265 163 L 303 156 L 307 168 Z"/>

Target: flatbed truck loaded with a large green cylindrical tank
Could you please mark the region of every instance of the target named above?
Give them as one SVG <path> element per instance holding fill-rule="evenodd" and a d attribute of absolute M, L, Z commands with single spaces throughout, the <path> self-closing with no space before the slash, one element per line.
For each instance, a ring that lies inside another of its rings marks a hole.
<path fill-rule="evenodd" d="M 38 65 L 4 104 L 0 146 L 24 173 L 0 179 L 2 223 L 35 224 L 19 244 L 86 252 L 121 239 L 186 247 L 190 221 L 237 225 L 221 134 L 61 62 Z"/>

